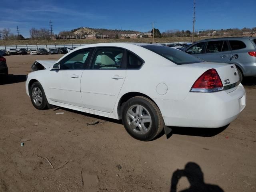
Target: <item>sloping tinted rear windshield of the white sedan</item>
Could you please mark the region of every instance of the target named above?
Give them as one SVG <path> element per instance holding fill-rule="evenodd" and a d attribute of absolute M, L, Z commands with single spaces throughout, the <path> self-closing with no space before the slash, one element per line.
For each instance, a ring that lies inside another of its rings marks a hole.
<path fill-rule="evenodd" d="M 152 52 L 155 52 L 156 54 L 161 55 L 162 57 L 170 60 L 171 62 L 174 62 L 177 65 L 203 62 L 202 60 L 190 54 L 187 54 L 183 51 L 180 51 L 171 47 L 158 46 L 158 45 L 144 45 L 142 47 Z"/>

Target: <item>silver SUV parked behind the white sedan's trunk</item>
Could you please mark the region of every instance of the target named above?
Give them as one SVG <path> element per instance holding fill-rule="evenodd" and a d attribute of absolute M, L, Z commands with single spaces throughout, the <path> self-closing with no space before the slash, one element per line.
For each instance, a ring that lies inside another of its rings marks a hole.
<path fill-rule="evenodd" d="M 208 62 L 235 64 L 240 81 L 256 76 L 256 38 L 225 37 L 205 39 L 189 46 L 186 53 Z"/>

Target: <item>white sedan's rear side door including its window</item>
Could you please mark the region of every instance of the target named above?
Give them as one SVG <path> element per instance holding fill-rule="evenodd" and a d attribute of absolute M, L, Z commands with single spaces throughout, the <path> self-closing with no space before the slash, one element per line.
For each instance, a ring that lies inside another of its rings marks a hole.
<path fill-rule="evenodd" d="M 90 67 L 81 79 L 81 96 L 89 109 L 112 113 L 126 78 L 126 51 L 115 47 L 98 47 Z"/>

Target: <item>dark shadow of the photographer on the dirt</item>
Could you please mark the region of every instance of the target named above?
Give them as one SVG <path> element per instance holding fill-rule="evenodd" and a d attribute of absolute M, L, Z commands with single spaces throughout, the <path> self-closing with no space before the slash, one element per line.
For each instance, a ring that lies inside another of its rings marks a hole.
<path fill-rule="evenodd" d="M 218 185 L 204 183 L 204 173 L 194 162 L 188 162 L 184 170 L 176 170 L 172 174 L 170 192 L 177 191 L 177 184 L 181 177 L 188 179 L 190 187 L 180 192 L 224 192 Z"/>

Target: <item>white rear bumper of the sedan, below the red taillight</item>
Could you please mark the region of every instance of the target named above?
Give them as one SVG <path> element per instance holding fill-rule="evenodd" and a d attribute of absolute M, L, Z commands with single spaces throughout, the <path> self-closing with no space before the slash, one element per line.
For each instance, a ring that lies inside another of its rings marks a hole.
<path fill-rule="evenodd" d="M 155 100 L 166 126 L 218 128 L 235 120 L 246 106 L 242 84 L 233 92 L 192 93 L 184 100 Z"/>

